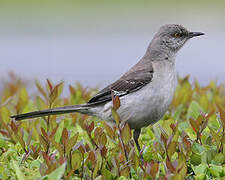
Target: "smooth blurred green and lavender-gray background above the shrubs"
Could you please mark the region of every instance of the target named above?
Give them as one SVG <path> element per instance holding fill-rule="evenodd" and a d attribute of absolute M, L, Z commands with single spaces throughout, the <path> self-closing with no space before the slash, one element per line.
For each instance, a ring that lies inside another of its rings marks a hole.
<path fill-rule="evenodd" d="M 178 74 L 202 85 L 224 82 L 224 0 L 0 0 L 0 78 L 12 71 L 30 81 L 103 88 L 144 55 L 167 23 L 206 34 L 179 52 Z"/>

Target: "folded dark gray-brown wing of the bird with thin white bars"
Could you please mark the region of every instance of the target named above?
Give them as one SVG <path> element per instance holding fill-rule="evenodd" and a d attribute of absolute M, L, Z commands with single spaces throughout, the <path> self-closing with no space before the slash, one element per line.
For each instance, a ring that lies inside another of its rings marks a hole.
<path fill-rule="evenodd" d="M 107 86 L 91 98 L 88 104 L 99 104 L 112 100 L 112 92 L 116 96 L 124 96 L 137 91 L 150 83 L 153 77 L 153 68 L 143 68 L 126 73 L 119 80 Z"/>

